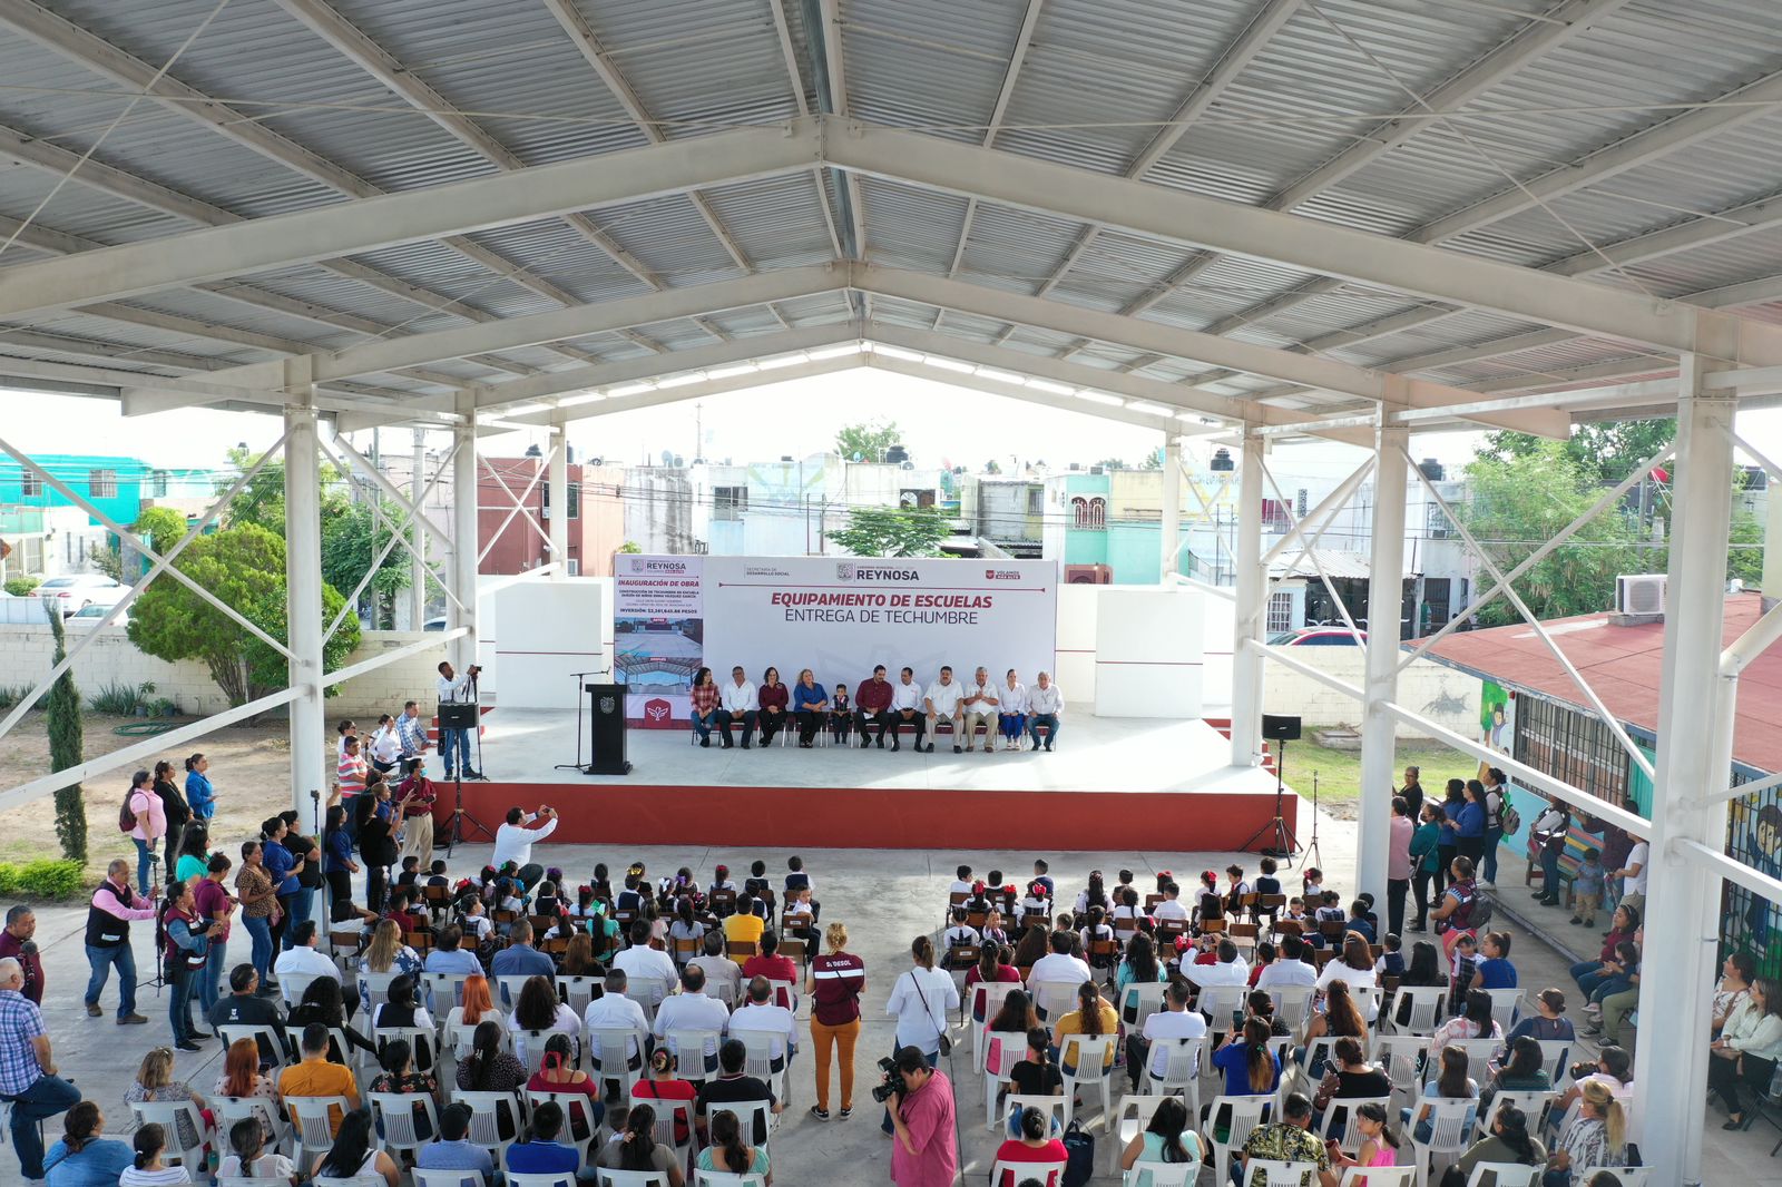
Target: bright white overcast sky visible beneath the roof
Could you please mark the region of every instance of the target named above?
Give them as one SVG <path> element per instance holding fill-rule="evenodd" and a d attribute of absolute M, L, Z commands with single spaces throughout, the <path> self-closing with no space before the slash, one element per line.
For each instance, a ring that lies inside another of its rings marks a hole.
<path fill-rule="evenodd" d="M 875 417 L 903 430 L 905 447 L 923 467 L 978 471 L 994 458 L 1005 472 L 1012 460 L 1044 460 L 1062 471 L 1071 462 L 1085 467 L 1101 458 L 1137 462 L 1158 444 L 1149 430 L 870 367 L 707 397 L 699 401 L 697 417 L 695 403 L 684 401 L 581 421 L 570 426 L 570 444 L 577 460 L 658 462 L 665 449 L 691 460 L 699 424 L 706 458 L 770 462 L 829 449 L 838 428 Z M 27 453 L 114 453 L 187 469 L 225 465 L 225 451 L 237 442 L 266 449 L 280 431 L 278 417 L 271 415 L 178 410 L 127 419 L 105 399 L 18 392 L 5 394 L 0 419 L 0 437 Z M 1771 460 L 1782 460 L 1782 410 L 1741 413 L 1739 431 Z M 385 449 L 410 447 L 406 430 L 383 437 Z M 429 444 L 438 447 L 444 440 L 444 433 L 435 433 Z M 544 446 L 545 431 L 485 438 L 483 453 L 511 456 L 531 442 Z M 1475 444 L 1474 433 L 1426 433 L 1411 442 L 1415 456 L 1435 456 L 1451 467 L 1472 460 Z M 1205 458 L 1210 446 L 1190 442 L 1187 449 Z M 1283 451 L 1276 471 L 1281 479 L 1296 472 L 1310 476 L 1353 465 L 1360 456 L 1344 446 L 1294 447 Z"/>

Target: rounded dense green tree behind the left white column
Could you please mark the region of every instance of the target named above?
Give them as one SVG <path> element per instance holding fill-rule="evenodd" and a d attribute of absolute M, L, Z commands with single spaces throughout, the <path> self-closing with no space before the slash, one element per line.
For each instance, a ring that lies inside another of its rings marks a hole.
<path fill-rule="evenodd" d="M 192 540 L 175 567 L 257 627 L 285 642 L 285 538 L 242 524 Z M 317 574 L 319 577 L 319 574 Z M 346 599 L 323 585 L 323 626 L 333 622 Z M 358 620 L 351 615 L 323 647 L 324 670 L 339 668 L 358 647 Z M 232 706 L 289 686 L 285 658 L 239 622 L 203 601 L 169 574 L 150 581 L 135 599 L 130 642 L 160 659 L 200 659 Z"/>

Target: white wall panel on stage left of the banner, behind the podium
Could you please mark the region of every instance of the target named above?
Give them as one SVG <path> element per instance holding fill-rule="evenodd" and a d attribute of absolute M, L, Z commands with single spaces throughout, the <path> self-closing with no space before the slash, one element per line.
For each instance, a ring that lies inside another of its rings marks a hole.
<path fill-rule="evenodd" d="M 519 581 L 495 592 L 490 601 L 501 606 L 495 661 L 503 708 L 574 709 L 581 697 L 581 679 L 574 674 L 611 670 L 602 647 L 606 585 L 599 577 L 563 577 Z"/>

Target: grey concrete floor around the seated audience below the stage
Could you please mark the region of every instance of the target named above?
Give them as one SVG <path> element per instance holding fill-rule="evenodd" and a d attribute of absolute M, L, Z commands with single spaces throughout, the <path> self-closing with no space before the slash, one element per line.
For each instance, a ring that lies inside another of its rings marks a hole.
<path fill-rule="evenodd" d="M 773 761 L 773 759 L 768 759 Z M 978 759 L 985 766 L 991 759 Z M 1000 759 L 996 759 L 1000 761 Z M 1010 756 L 1007 761 L 1019 763 Z M 1306 813 L 1310 820 L 1310 811 Z M 1069 822 L 1059 822 L 1059 836 L 1069 838 Z M 939 832 L 939 829 L 937 829 Z M 944 841 L 943 836 L 936 838 Z M 1329 872 L 1328 884 L 1342 888 L 1345 872 L 1354 868 L 1354 825 L 1322 818 L 1319 825 L 1319 864 Z M 884 1002 L 891 991 L 891 982 L 902 970 L 909 968 L 907 952 L 914 936 L 934 934 L 939 925 L 941 907 L 946 902 L 946 884 L 953 877 L 953 868 L 969 863 L 978 873 L 991 866 L 1000 866 L 1010 875 L 1026 873 L 1035 854 L 985 854 L 955 852 L 936 848 L 932 852 L 909 850 L 805 850 L 805 868 L 816 880 L 818 898 L 823 902 L 823 920 L 841 920 L 850 925 L 854 950 L 868 964 L 866 1030 L 861 1037 L 857 1066 L 861 1084 L 857 1087 L 855 1116 L 850 1121 L 818 1123 L 805 1114 L 814 1100 L 811 1085 L 809 1055 L 802 1053 L 791 1075 L 793 1107 L 784 1114 L 782 1126 L 772 1142 L 775 1182 L 784 1187 L 854 1187 L 889 1182 L 889 1142 L 877 1128 L 877 1114 L 866 1093 L 866 1073 L 880 1052 L 887 1052 L 893 1041 L 893 1023 L 884 1016 Z M 453 873 L 479 868 L 488 857 L 488 847 L 462 847 L 456 850 Z M 768 863 L 775 877 L 784 873 L 788 854 L 784 852 L 723 852 L 699 847 L 686 848 L 636 848 L 625 852 L 601 847 L 540 847 L 538 857 L 549 864 L 563 866 L 570 875 L 586 875 L 595 861 L 606 861 L 611 868 L 624 868 L 633 859 L 642 859 L 652 873 L 674 870 L 686 864 L 707 877 L 716 863 L 743 870 L 754 859 Z M 1247 870 L 1255 870 L 1255 855 L 1233 855 L 1215 852 L 1101 852 L 1101 854 L 1046 854 L 1051 863 L 1051 875 L 1057 879 L 1060 895 L 1075 895 L 1089 870 L 1099 868 L 1112 873 L 1132 868 L 1139 880 L 1149 880 L 1157 870 L 1173 870 L 1178 877 L 1192 875 L 1199 870 L 1222 870 L 1233 857 Z M 1504 877 L 1504 895 L 1518 896 L 1520 889 Z M 1525 898 L 1522 902 L 1527 902 Z M 86 959 L 80 948 L 80 929 L 84 911 L 80 909 L 43 909 L 37 923 L 37 943 L 43 946 L 48 1002 L 46 1016 L 50 1034 L 55 1043 L 57 1060 L 66 1075 L 71 1075 L 86 1093 L 98 1100 L 109 1112 L 114 1132 L 128 1128 L 130 1114 L 121 1105 L 123 1087 L 134 1071 L 143 1052 L 168 1041 L 166 1000 L 157 1000 L 151 993 L 141 1000 L 141 1011 L 150 1016 L 148 1027 L 119 1028 L 112 1023 L 110 1012 L 116 1003 L 116 987 L 109 987 L 103 996 L 107 1016 L 91 1019 L 80 1005 L 80 989 L 86 984 Z M 1520 980 L 1529 991 L 1543 986 L 1561 986 L 1570 989 L 1566 962 L 1552 948 L 1541 945 L 1522 929 L 1516 932 L 1515 961 Z M 150 925 L 135 925 L 135 952 L 139 962 L 146 964 L 150 948 Z M 239 936 L 232 943 L 232 954 L 246 955 L 246 941 Z M 955 1036 L 957 1037 L 957 1036 Z M 178 1075 L 208 1091 L 217 1075 L 221 1052 L 216 1043 L 205 1052 L 178 1057 Z M 982 1085 L 969 1075 L 969 1048 L 955 1046 L 953 1062 L 960 1075 L 955 1076 L 959 1087 L 959 1121 L 962 1132 L 962 1167 L 966 1183 L 982 1183 L 994 1157 L 996 1139 L 984 1128 Z M 1203 1100 L 1206 1096 L 1203 1094 Z M 1087 1116 L 1096 1116 L 1094 1103 Z M 1705 1142 L 1705 1182 L 1707 1183 L 1748 1183 L 1782 1185 L 1782 1164 L 1768 1158 L 1775 1137 L 1768 1126 L 1759 1126 L 1746 1134 L 1721 1134 L 1718 1110 L 1709 1112 L 1709 1130 L 1713 1137 Z M 52 1134 L 55 1123 L 52 1123 Z M 1117 1183 L 1117 1176 L 1105 1175 L 1107 1137 L 1098 1134 L 1096 1183 Z M 0 1153 L 0 1183 L 18 1182 L 16 1162 L 11 1151 Z M 1203 1176 L 1210 1182 L 1210 1175 Z"/>

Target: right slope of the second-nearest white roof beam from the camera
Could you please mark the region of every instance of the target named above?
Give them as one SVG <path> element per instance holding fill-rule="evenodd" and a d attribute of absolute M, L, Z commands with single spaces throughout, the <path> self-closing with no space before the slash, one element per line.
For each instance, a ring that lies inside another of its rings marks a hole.
<path fill-rule="evenodd" d="M 886 298 L 920 301 L 925 305 L 944 305 L 946 308 L 953 308 L 962 314 L 977 314 L 978 317 L 993 317 L 998 321 L 1035 326 L 1053 333 L 1083 335 L 1133 351 L 1194 358 L 1221 367 L 1246 371 L 1249 374 L 1283 380 L 1288 372 L 1292 372 L 1297 378 L 1287 378 L 1290 383 L 1304 383 L 1306 387 L 1317 387 L 1344 396 L 1356 396 L 1372 401 L 1392 399 L 1388 385 L 1395 380 L 1395 376 L 1379 371 L 1363 371 L 1361 367 L 1351 367 L 1349 364 L 1329 358 L 1294 355 L 1290 351 L 1255 346 L 1251 342 L 1215 339 L 1192 330 L 1176 330 L 1142 317 L 1105 314 L 1101 310 L 1082 308 L 1076 305 L 1046 301 L 1044 298 L 969 285 L 944 276 L 925 276 L 920 273 L 903 273 L 882 267 L 857 269 L 855 287 L 862 292 L 873 292 Z M 1410 408 L 1458 405 L 1477 399 L 1477 392 L 1429 383 L 1426 380 L 1404 380 L 1402 389 L 1404 406 Z M 1570 431 L 1570 422 L 1563 415 L 1549 417 L 1538 412 L 1518 412 L 1509 417 L 1481 417 L 1481 422 L 1486 422 L 1492 428 L 1513 428 L 1522 433 L 1538 433 L 1541 437 L 1565 437 Z"/>

